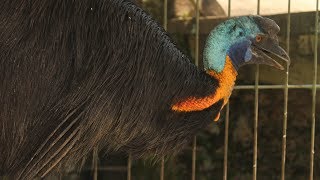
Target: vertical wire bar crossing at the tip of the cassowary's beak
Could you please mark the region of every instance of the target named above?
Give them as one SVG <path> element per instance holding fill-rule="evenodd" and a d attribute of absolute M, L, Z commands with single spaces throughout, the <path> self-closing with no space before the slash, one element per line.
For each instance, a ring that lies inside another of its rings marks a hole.
<path fill-rule="evenodd" d="M 290 30 L 291 30 L 291 0 L 288 0 L 287 18 L 287 52 L 290 52 Z M 285 88 L 284 88 L 284 109 L 283 109 L 283 129 L 282 129 L 282 155 L 281 155 L 281 180 L 285 180 L 286 172 L 286 150 L 287 150 L 287 122 L 288 122 L 288 84 L 289 84 L 289 64 L 287 63 Z"/>

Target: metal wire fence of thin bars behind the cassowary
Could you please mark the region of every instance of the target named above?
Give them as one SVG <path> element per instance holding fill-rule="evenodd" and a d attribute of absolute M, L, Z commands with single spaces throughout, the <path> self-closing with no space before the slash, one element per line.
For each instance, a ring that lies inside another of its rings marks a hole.
<path fill-rule="evenodd" d="M 186 0 L 189 1 L 189 0 Z M 200 11 L 199 11 L 199 4 L 200 0 L 195 0 L 195 41 L 194 41 L 194 60 L 195 64 L 198 66 L 199 65 L 199 31 L 200 31 Z M 257 0 L 257 14 L 260 14 L 260 5 L 261 2 L 260 0 Z M 290 54 L 290 43 L 291 43 L 291 0 L 288 0 L 288 11 L 287 11 L 287 19 L 286 19 L 286 50 L 288 54 Z M 316 7 L 314 9 L 315 11 L 315 22 L 314 22 L 314 54 L 313 54 L 313 79 L 312 79 L 312 84 L 289 84 L 289 64 L 286 65 L 286 71 L 284 75 L 284 83 L 283 84 L 278 84 L 278 85 L 261 85 L 259 82 L 260 79 L 260 67 L 259 65 L 256 66 L 255 70 L 255 75 L 254 75 L 254 84 L 253 85 L 237 85 L 234 88 L 234 91 L 241 91 L 241 90 L 253 90 L 254 91 L 254 125 L 253 125 L 253 160 L 252 160 L 252 179 L 256 180 L 257 179 L 257 168 L 259 165 L 258 161 L 258 124 L 259 124 L 259 91 L 260 90 L 283 90 L 283 97 L 284 97 L 284 102 L 283 102 L 283 129 L 282 129 L 282 150 L 281 150 L 281 179 L 285 179 L 286 175 L 286 153 L 287 153 L 287 123 L 288 123 L 288 92 L 290 89 L 305 89 L 305 90 L 310 90 L 312 92 L 312 114 L 311 114 L 311 135 L 310 135 L 310 172 L 309 172 L 309 179 L 313 180 L 314 179 L 314 159 L 315 159 L 315 133 L 316 133 L 316 102 L 317 102 L 317 89 L 320 88 L 320 84 L 317 83 L 317 66 L 318 66 L 318 33 L 319 33 L 319 13 L 318 13 L 318 6 L 319 6 L 319 0 L 316 0 Z M 168 0 L 163 0 L 163 26 L 167 30 L 168 29 Z M 231 16 L 231 7 L 232 7 L 232 0 L 228 0 L 228 10 L 227 10 L 227 16 Z M 232 112 L 232 109 L 230 108 L 229 104 L 226 105 L 226 114 L 225 114 L 225 139 L 224 139 L 224 161 L 223 161 L 223 179 L 226 180 L 228 179 L 228 144 L 229 144 L 229 119 L 230 119 L 230 112 Z M 318 119 L 319 120 L 319 119 Z M 319 142 L 318 142 L 319 143 Z M 191 177 L 190 179 L 195 180 L 196 179 L 196 160 L 197 160 L 197 137 L 194 137 L 193 143 L 192 143 L 192 161 L 190 162 L 191 165 Z M 99 179 L 98 177 L 98 170 L 109 170 L 109 171 L 126 171 L 127 172 L 127 180 L 131 180 L 132 175 L 131 175 L 131 169 L 132 169 L 132 159 L 131 156 L 129 155 L 128 161 L 127 161 L 127 166 L 122 167 L 122 166 L 114 166 L 105 168 L 105 167 L 100 167 L 98 165 L 98 152 L 95 150 L 93 152 L 93 157 L 94 157 L 94 175 L 93 179 Z M 319 163 L 319 162 L 318 162 Z M 165 173 L 170 171 L 166 169 L 165 167 L 165 157 L 162 158 L 162 160 L 159 163 L 159 179 L 164 180 L 165 179 Z"/>

